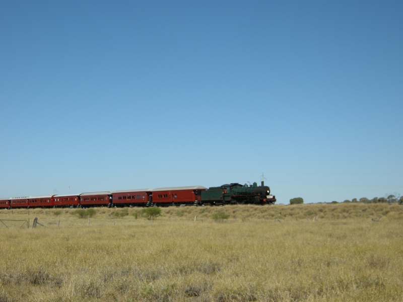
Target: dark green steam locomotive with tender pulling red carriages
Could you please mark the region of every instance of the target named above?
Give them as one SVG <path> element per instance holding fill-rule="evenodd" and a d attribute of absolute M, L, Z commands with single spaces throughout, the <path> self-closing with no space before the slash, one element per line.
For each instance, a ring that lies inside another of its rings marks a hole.
<path fill-rule="evenodd" d="M 270 195 L 270 188 L 261 182 L 248 186 L 238 183 L 226 184 L 220 187 L 211 187 L 201 191 L 200 204 L 274 204 L 276 196 Z"/>

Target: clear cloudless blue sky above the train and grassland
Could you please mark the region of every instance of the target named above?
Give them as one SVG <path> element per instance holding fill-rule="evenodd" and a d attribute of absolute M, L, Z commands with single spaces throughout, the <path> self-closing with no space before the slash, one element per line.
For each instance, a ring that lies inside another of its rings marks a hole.
<path fill-rule="evenodd" d="M 0 1 L 0 197 L 403 193 L 401 1 Z M 56 191 L 55 191 L 56 190 Z"/>

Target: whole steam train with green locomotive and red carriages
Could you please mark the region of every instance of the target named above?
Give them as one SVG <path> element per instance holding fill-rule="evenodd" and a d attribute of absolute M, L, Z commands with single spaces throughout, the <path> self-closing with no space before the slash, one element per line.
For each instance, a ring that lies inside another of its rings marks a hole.
<path fill-rule="evenodd" d="M 35 207 L 95 207 L 95 206 L 179 206 L 224 204 L 274 204 L 276 196 L 270 195 L 270 187 L 261 182 L 257 186 L 239 183 L 219 187 L 203 186 L 171 187 L 103 191 L 67 195 L 43 195 L 0 198 L 0 208 Z"/>

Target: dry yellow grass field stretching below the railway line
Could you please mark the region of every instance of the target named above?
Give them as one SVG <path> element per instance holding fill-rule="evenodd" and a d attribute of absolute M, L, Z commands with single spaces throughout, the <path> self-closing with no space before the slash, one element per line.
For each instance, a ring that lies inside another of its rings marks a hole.
<path fill-rule="evenodd" d="M 0 210 L 0 302 L 403 300 L 396 204 L 73 212 Z"/>

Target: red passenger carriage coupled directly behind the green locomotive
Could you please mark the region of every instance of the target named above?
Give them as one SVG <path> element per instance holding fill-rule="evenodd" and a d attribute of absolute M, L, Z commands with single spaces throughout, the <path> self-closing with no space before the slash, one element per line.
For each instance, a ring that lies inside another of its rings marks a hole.
<path fill-rule="evenodd" d="M 173 187 L 153 189 L 153 203 L 156 205 L 197 204 L 203 186 Z"/>

